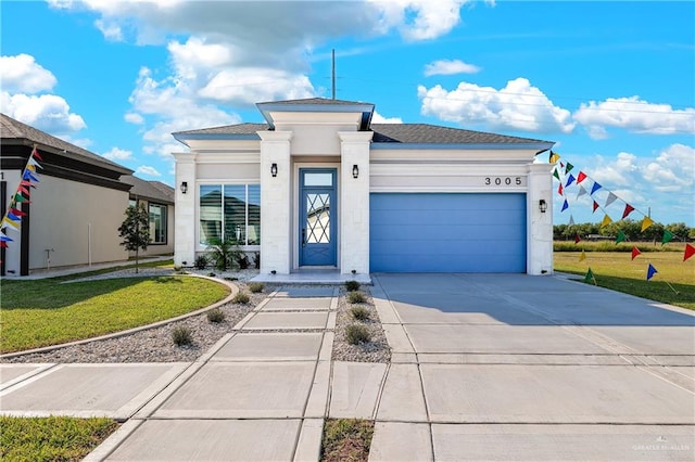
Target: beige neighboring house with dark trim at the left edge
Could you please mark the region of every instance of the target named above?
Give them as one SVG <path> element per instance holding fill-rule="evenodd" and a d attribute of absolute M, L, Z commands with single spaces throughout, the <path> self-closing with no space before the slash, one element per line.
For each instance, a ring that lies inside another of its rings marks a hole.
<path fill-rule="evenodd" d="M 29 194 L 23 193 L 28 201 L 16 203 L 23 214 L 17 229 L 3 229 L 12 241 L 0 248 L 0 275 L 28 275 L 48 269 L 126 260 L 128 253 L 121 245 L 118 227 L 130 200 L 139 197 L 147 201 L 151 214 L 160 206 L 154 210 L 160 214 L 154 219 L 160 220 L 154 226 L 160 242 L 149 252 L 172 253 L 172 226 L 162 221 L 174 216 L 170 188 L 153 182 L 147 192 L 140 192 L 146 191 L 142 184 L 146 182 L 131 177 L 131 169 L 5 114 L 0 114 L 0 128 L 3 217 L 18 191 L 34 147 L 41 158 L 35 159 L 41 167 L 36 168 L 38 182 L 27 189 Z"/>

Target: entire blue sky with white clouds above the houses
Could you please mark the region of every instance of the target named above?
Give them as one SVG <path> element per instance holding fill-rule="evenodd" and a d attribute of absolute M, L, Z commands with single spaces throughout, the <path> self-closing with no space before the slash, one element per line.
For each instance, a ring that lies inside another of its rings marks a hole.
<path fill-rule="evenodd" d="M 173 131 L 330 98 L 334 49 L 337 98 L 375 103 L 375 121 L 556 141 L 620 198 L 611 218 L 627 202 L 631 218 L 695 226 L 694 2 L 51 0 L 0 14 L 2 112 L 143 179 L 174 183 Z M 577 194 L 555 194 L 555 222 L 601 221 Z"/>

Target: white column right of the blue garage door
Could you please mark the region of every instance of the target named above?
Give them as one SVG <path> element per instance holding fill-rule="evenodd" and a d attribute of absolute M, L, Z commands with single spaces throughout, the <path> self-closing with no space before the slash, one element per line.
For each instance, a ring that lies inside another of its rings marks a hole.
<path fill-rule="evenodd" d="M 553 273 L 553 177 L 549 164 L 528 165 L 527 273 Z M 545 201 L 545 213 L 540 202 Z"/>

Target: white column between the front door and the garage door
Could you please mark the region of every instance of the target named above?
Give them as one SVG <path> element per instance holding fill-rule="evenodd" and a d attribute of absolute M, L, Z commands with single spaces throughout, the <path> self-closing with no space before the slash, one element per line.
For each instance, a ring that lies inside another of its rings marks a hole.
<path fill-rule="evenodd" d="M 339 131 L 340 272 L 369 273 L 369 143 L 371 131 Z M 353 177 L 357 166 L 358 176 Z"/>

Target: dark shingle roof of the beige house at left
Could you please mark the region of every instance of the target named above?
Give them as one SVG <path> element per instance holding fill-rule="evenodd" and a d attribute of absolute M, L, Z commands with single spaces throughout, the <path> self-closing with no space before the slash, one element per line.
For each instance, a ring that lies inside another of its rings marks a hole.
<path fill-rule="evenodd" d="M 99 165 L 121 174 L 132 174 L 132 170 L 129 168 L 111 162 L 108 158 L 83 147 L 76 146 L 75 144 L 68 143 L 67 141 L 63 141 L 60 138 L 55 138 L 52 134 L 48 134 L 47 132 L 29 125 L 23 124 L 5 114 L 0 114 L 0 134 L 3 140 L 25 140 L 27 144 L 39 144 L 39 150 L 41 149 L 40 145 L 52 147 L 60 155 L 65 157 L 72 157 L 88 164 Z"/>

